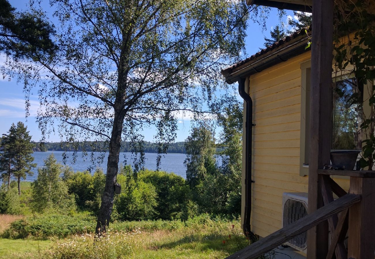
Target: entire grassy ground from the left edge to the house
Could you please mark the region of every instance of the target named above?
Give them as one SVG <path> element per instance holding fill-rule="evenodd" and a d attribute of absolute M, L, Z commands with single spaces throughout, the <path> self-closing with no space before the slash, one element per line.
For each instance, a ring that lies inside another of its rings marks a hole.
<path fill-rule="evenodd" d="M 78 217 L 75 217 L 77 219 Z M 201 215 L 186 222 L 117 222 L 94 242 L 83 233 L 49 240 L 0 239 L 0 258 L 225 258 L 247 241 L 240 222 Z M 229 236 L 231 235 L 231 236 Z"/>

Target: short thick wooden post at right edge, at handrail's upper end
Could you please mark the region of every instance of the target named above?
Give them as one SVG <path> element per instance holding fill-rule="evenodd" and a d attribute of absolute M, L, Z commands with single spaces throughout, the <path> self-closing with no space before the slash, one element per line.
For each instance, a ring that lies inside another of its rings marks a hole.
<path fill-rule="evenodd" d="M 350 177 L 350 193 L 361 201 L 349 208 L 348 258 L 374 258 L 375 251 L 375 179 Z"/>

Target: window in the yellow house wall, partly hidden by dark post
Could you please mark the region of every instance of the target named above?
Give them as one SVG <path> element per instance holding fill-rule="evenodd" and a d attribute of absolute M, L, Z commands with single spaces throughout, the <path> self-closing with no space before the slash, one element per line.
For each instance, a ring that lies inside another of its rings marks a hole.
<path fill-rule="evenodd" d="M 301 64 L 300 176 L 309 173 L 311 62 Z M 362 149 L 363 86 L 352 74 L 333 78 L 332 149 Z"/>

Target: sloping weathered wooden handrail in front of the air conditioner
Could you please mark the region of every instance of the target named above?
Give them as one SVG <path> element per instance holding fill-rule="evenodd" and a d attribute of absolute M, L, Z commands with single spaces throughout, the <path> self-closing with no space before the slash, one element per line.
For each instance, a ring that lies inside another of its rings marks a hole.
<path fill-rule="evenodd" d="M 341 198 L 336 199 L 327 206 L 321 207 L 311 214 L 291 223 L 290 225 L 279 229 L 269 236 L 251 244 L 248 247 L 234 253 L 227 257 L 227 259 L 255 259 L 264 253 L 274 249 L 275 247 L 291 240 L 297 235 L 305 232 L 308 229 L 326 221 L 333 215 L 346 210 L 353 204 L 356 204 L 361 199 L 360 195 L 346 194 Z"/>

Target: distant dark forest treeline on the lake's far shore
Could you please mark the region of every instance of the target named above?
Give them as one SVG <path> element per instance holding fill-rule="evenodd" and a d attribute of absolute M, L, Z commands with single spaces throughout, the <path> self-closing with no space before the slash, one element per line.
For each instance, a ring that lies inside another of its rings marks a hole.
<path fill-rule="evenodd" d="M 95 142 L 81 142 L 81 143 L 68 143 L 68 142 L 33 142 L 35 144 L 34 151 L 108 151 L 108 143 L 104 141 Z M 158 144 L 154 142 L 144 141 L 141 143 L 143 152 L 145 153 L 158 153 Z M 137 147 L 137 149 L 135 149 Z M 139 152 L 139 143 L 132 144 L 131 142 L 121 142 L 120 152 Z M 169 143 L 167 153 L 186 153 L 184 142 Z M 163 152 L 161 152 L 163 153 Z"/>

